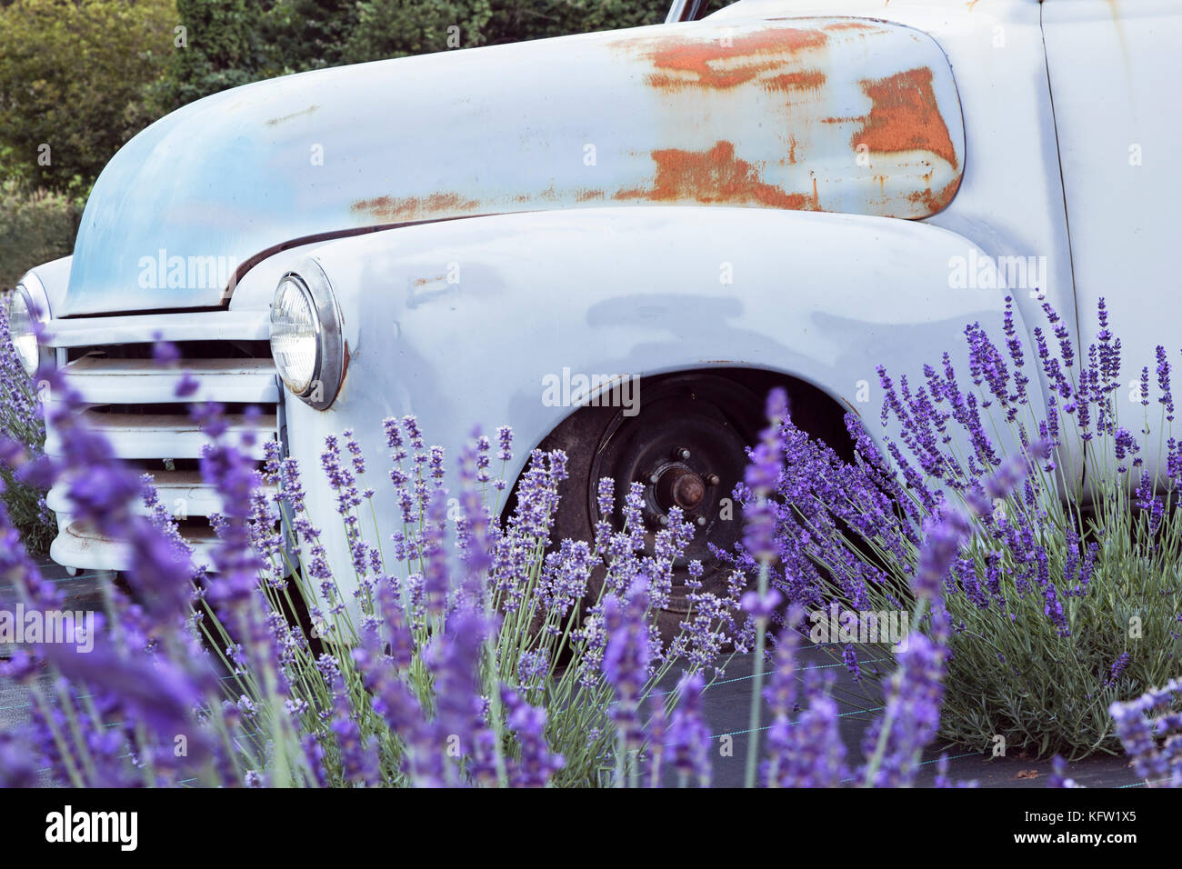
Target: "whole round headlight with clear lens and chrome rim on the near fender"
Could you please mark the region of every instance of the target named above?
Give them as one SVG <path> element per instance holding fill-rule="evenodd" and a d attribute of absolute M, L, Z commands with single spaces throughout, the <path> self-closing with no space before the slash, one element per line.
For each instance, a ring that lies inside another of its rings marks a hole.
<path fill-rule="evenodd" d="M 337 397 L 345 368 L 340 310 L 314 261 L 288 272 L 271 303 L 271 355 L 284 384 L 324 410 Z"/>

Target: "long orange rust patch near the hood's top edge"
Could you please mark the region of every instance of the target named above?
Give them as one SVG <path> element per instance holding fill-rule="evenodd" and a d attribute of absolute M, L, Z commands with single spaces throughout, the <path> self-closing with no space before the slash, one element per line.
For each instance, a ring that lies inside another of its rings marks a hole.
<path fill-rule="evenodd" d="M 686 41 L 680 37 L 660 39 L 650 57 L 661 72 L 647 80 L 667 90 L 735 87 L 761 72 L 781 67 L 791 56 L 820 48 L 827 41 L 824 31 L 797 27 L 769 27 L 710 43 Z"/>

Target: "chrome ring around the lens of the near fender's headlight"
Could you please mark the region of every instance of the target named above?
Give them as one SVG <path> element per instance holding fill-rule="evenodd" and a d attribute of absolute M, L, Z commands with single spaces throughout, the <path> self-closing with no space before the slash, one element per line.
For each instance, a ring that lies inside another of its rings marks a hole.
<path fill-rule="evenodd" d="M 293 387 L 284 374 L 284 367 L 275 352 L 274 317 L 275 300 L 285 284 L 304 294 L 311 307 L 312 326 L 316 330 L 316 362 L 312 376 L 306 385 L 297 383 Z M 271 355 L 275 362 L 279 378 L 292 395 L 317 410 L 326 410 L 336 401 L 345 375 L 345 339 L 342 332 L 340 305 L 332 292 L 332 285 L 319 264 L 306 260 L 296 270 L 286 272 L 275 285 L 271 301 Z M 298 388 L 297 388 L 298 387 Z"/>

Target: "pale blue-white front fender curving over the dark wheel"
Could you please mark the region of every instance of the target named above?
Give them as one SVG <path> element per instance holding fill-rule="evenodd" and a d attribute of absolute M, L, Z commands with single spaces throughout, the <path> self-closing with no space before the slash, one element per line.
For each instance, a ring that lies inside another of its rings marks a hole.
<path fill-rule="evenodd" d="M 509 424 L 512 479 L 571 413 L 547 396 L 556 377 L 722 365 L 792 375 L 875 417 L 876 365 L 916 384 L 944 350 L 967 371 L 966 324 L 1001 339 L 1005 291 L 952 288 L 949 260 L 969 249 L 980 253 L 911 221 L 691 207 L 476 218 L 339 240 L 311 255 L 340 303 L 348 374 L 327 411 L 286 396 L 290 449 L 312 467 L 326 434 L 352 428 L 379 479 L 385 416 L 415 414 L 450 456 L 475 423 Z M 879 443 L 895 434 L 866 423 Z M 370 485 L 392 518 L 389 487 Z M 331 499 L 310 500 L 322 526 L 339 524 Z"/>

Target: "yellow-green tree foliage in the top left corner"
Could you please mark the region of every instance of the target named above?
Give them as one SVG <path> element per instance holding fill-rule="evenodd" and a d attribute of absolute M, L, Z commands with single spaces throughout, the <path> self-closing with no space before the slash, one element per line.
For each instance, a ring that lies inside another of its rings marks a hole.
<path fill-rule="evenodd" d="M 82 193 L 154 119 L 173 0 L 15 0 L 0 8 L 0 180 Z"/>

